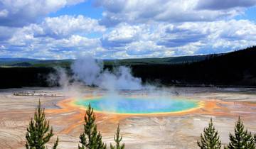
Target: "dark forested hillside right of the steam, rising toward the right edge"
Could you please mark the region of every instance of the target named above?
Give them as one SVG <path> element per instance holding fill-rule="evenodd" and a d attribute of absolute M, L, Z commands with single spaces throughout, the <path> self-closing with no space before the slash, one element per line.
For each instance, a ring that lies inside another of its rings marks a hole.
<path fill-rule="evenodd" d="M 200 62 L 134 65 L 132 72 L 144 82 L 256 87 L 256 46 L 224 55 L 209 55 Z"/>

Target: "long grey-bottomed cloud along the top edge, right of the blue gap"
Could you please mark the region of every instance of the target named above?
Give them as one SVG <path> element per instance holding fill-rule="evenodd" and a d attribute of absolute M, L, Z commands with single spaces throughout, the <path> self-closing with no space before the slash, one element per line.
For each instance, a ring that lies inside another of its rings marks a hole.
<path fill-rule="evenodd" d="M 97 0 L 95 6 L 105 8 L 101 23 L 105 26 L 115 26 L 118 23 L 150 23 L 215 21 L 221 18 L 233 17 L 242 13 L 242 9 L 227 9 L 215 11 L 200 9 L 201 0 L 152 0 L 152 1 L 119 1 Z M 205 2 L 208 4 L 208 2 Z M 199 6 L 200 7 L 200 6 Z"/>

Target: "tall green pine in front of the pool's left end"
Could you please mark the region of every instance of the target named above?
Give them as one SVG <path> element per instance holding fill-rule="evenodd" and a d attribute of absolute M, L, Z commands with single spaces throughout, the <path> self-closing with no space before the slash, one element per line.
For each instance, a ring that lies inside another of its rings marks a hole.
<path fill-rule="evenodd" d="M 102 136 L 100 132 L 97 132 L 97 126 L 95 124 L 95 114 L 89 104 L 85 113 L 84 132 L 80 134 L 80 143 L 78 149 L 106 149 L 107 145 L 102 143 Z"/>

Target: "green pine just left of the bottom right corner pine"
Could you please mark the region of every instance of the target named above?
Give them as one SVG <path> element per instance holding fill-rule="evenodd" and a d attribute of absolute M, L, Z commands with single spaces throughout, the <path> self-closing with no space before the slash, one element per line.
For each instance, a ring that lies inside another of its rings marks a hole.
<path fill-rule="evenodd" d="M 201 149 L 219 149 L 221 147 L 220 136 L 218 131 L 215 131 L 212 118 L 210 118 L 208 127 L 204 128 L 201 140 L 197 144 Z"/>

